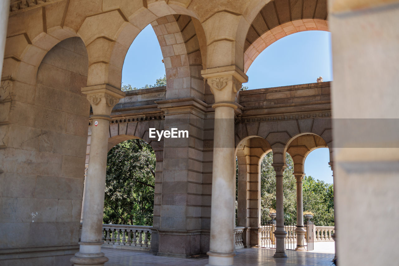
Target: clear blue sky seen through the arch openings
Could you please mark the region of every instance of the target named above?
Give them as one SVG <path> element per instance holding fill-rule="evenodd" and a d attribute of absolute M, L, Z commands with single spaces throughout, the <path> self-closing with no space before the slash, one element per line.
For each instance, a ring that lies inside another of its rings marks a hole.
<path fill-rule="evenodd" d="M 153 85 L 165 75 L 162 53 L 148 25 L 130 46 L 122 69 L 122 84 L 132 87 Z M 331 34 L 308 31 L 286 36 L 271 44 L 247 71 L 249 89 L 278 87 L 332 80 Z M 327 148 L 312 151 L 305 161 L 305 174 L 332 183 Z"/>

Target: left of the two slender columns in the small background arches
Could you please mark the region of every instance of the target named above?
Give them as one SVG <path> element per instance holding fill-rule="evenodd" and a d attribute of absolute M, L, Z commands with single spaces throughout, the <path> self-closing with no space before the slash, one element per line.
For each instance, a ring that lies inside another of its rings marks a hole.
<path fill-rule="evenodd" d="M 276 237 L 276 252 L 273 257 L 286 258 L 284 240 L 287 232 L 284 230 L 282 173 L 287 165 L 285 163 L 272 163 L 272 166 L 276 172 L 276 230 L 274 232 Z"/>

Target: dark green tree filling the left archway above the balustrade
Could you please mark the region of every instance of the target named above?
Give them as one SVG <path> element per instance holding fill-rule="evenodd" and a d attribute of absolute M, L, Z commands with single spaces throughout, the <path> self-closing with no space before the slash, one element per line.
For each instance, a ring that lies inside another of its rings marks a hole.
<path fill-rule="evenodd" d="M 103 222 L 152 225 L 155 154 L 141 139 L 123 141 L 107 158 Z"/>

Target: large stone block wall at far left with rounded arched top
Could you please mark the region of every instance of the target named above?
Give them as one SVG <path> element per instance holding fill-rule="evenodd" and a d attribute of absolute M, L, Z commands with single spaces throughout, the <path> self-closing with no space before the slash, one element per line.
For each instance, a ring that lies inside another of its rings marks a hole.
<path fill-rule="evenodd" d="M 0 153 L 0 230 L 6 240 L 0 248 L 8 249 L 6 258 L 47 256 L 34 263 L 69 265 L 78 248 L 90 107 L 80 89 L 86 80 L 85 46 L 69 38 L 43 58 L 36 85 L 3 81 L 18 95 Z"/>

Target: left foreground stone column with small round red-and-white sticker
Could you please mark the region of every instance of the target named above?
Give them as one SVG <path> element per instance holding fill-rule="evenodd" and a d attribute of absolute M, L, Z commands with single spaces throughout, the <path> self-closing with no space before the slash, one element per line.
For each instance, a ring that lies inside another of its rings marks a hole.
<path fill-rule="evenodd" d="M 71 258 L 75 266 L 104 265 L 108 258 L 101 252 L 103 232 L 103 209 L 105 175 L 111 110 L 125 93 L 109 85 L 94 85 L 82 88 L 93 108 L 93 127 L 89 169 L 85 183 L 83 225 L 79 252 Z"/>

